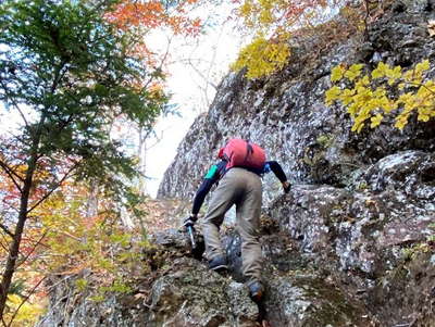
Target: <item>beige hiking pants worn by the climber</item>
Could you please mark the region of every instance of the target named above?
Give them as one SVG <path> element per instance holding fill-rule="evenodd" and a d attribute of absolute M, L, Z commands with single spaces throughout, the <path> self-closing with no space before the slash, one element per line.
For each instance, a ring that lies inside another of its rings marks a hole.
<path fill-rule="evenodd" d="M 241 237 L 243 273 L 248 279 L 261 278 L 260 223 L 262 186 L 260 177 L 244 168 L 231 168 L 220 180 L 203 219 L 206 255 L 224 255 L 219 228 L 225 213 L 236 204 L 236 229 Z"/>

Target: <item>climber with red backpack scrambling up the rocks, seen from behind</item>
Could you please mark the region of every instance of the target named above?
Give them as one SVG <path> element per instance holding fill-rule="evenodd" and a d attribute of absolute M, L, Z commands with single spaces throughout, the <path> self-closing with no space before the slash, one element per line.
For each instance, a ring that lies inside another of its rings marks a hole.
<path fill-rule="evenodd" d="M 206 196 L 216 184 L 217 187 L 202 219 L 209 268 L 219 272 L 227 269 L 219 229 L 225 213 L 233 204 L 236 204 L 236 229 L 241 237 L 243 273 L 248 279 L 251 299 L 258 302 L 264 291 L 261 281 L 261 246 L 258 236 L 262 202 L 260 177 L 272 171 L 282 183 L 286 193 L 290 189 L 290 184 L 281 165 L 276 161 L 265 161 L 264 150 L 250 141 L 231 139 L 219 151 L 217 158 L 220 162 L 211 166 L 202 180 L 194 199 L 191 215 L 184 222 L 184 226 L 195 225 Z"/>

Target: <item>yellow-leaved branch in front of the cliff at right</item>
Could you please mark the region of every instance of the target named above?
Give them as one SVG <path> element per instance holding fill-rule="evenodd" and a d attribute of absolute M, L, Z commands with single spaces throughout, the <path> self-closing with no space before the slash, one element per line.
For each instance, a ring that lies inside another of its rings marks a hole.
<path fill-rule="evenodd" d="M 403 129 L 415 113 L 418 121 L 435 117 L 435 81 L 425 80 L 431 67 L 428 60 L 403 71 L 380 62 L 369 74 L 363 65 L 338 65 L 331 74 L 331 87 L 325 93 L 327 105 L 341 102 L 350 114 L 352 131 L 360 133 L 370 120 L 370 127 L 378 126 L 386 115 L 395 117 L 395 127 Z"/>

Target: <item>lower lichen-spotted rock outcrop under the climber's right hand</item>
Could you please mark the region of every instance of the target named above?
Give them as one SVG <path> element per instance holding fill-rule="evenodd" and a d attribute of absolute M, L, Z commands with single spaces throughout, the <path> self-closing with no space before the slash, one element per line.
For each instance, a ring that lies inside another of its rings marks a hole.
<path fill-rule="evenodd" d="M 433 153 L 391 154 L 353 190 L 299 185 L 269 214 L 314 271 L 362 301 L 381 326 L 433 326 L 435 313 L 423 318 L 422 309 L 432 307 L 435 291 L 435 184 L 426 175 L 434 165 Z"/>

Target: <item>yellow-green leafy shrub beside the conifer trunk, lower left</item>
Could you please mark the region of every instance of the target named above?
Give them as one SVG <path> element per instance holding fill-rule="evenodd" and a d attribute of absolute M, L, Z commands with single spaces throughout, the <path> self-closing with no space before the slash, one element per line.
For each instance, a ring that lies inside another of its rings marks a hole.
<path fill-rule="evenodd" d="M 45 272 L 76 274 L 83 269 L 98 276 L 99 287 L 110 286 L 115 280 L 128 282 L 127 276 L 142 274 L 149 267 L 137 265 L 142 259 L 142 249 L 150 244 L 138 242 L 140 232 L 123 226 L 110 199 L 99 194 L 98 213 L 87 212 L 88 192 L 85 185 L 65 186 L 62 192 L 52 194 L 35 210 L 40 216 L 40 234 L 45 247 Z M 95 289 L 88 280 L 77 280 L 78 291 Z"/>

